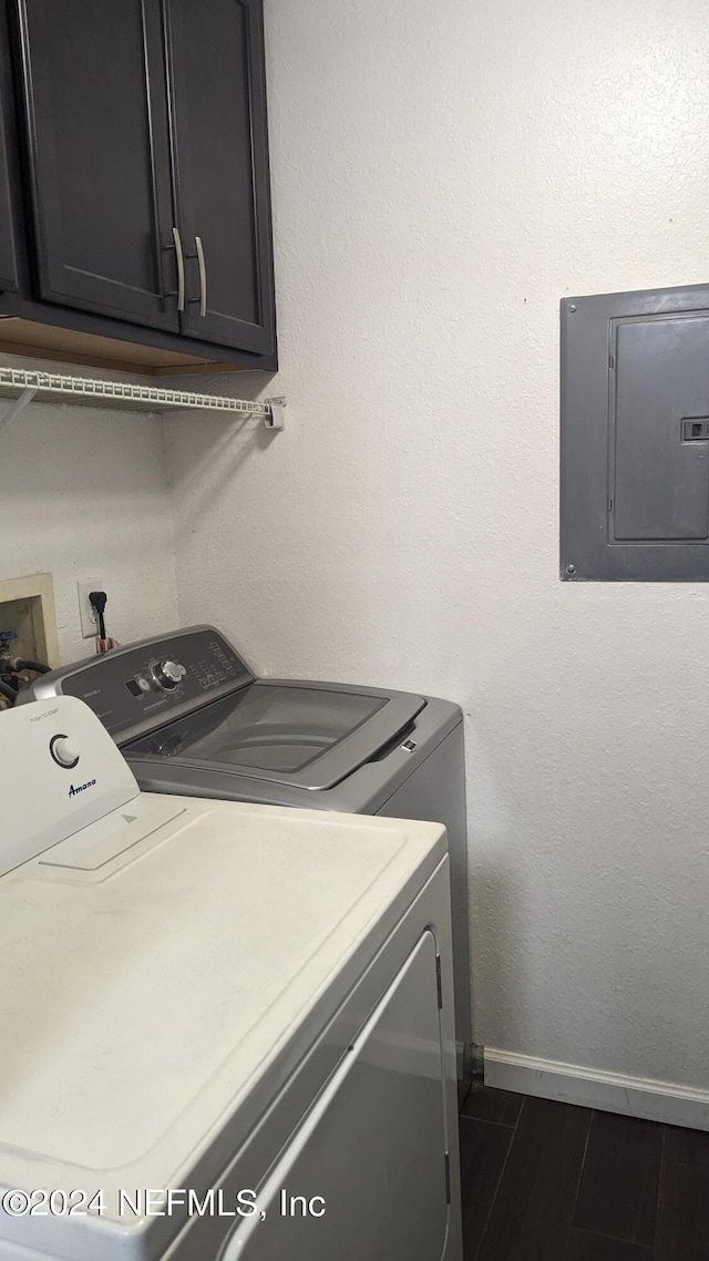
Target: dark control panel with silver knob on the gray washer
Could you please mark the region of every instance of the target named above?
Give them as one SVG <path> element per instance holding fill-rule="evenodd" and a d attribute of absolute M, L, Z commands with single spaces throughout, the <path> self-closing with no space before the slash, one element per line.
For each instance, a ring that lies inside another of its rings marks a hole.
<path fill-rule="evenodd" d="M 77 696 L 121 744 L 254 678 L 218 630 L 190 627 L 54 670 L 20 696 Z"/>

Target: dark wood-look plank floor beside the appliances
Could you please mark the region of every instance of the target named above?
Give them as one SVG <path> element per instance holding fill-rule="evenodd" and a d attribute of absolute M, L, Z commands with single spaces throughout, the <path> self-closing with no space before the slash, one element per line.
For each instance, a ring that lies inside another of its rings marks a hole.
<path fill-rule="evenodd" d="M 709 1134 L 474 1086 L 464 1261 L 709 1261 Z"/>

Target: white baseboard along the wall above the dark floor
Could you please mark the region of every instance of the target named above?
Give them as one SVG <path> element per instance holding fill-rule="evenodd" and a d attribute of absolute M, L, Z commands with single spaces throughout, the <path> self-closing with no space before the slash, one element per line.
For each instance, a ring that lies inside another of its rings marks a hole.
<path fill-rule="evenodd" d="M 709 1091 L 670 1082 L 601 1073 L 579 1064 L 559 1064 L 486 1047 L 484 1084 L 665 1125 L 709 1130 Z"/>

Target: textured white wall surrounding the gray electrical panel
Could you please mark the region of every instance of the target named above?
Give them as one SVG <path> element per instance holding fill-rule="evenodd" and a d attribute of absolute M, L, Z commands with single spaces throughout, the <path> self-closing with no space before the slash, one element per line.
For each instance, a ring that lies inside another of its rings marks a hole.
<path fill-rule="evenodd" d="M 706 280 L 709 9 L 266 35 L 290 422 L 170 422 L 182 620 L 462 701 L 477 1040 L 709 1087 L 709 589 L 558 580 L 558 301 Z"/>

